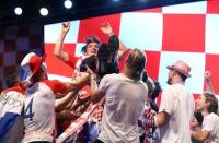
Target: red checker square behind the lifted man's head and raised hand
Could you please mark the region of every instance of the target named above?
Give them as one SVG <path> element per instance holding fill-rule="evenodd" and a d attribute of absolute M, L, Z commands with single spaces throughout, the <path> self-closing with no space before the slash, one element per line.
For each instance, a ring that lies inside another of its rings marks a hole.
<path fill-rule="evenodd" d="M 110 22 L 111 26 L 116 35 L 119 35 L 120 27 L 120 14 L 113 14 L 106 16 L 91 17 L 80 21 L 79 26 L 79 43 L 84 43 L 84 38 L 91 35 L 97 36 L 103 43 L 106 43 L 108 36 L 100 31 L 101 24 Z"/>

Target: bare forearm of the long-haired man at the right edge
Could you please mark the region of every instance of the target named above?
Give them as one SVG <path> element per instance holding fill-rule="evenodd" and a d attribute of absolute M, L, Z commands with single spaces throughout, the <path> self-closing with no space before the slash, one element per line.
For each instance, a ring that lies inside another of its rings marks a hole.
<path fill-rule="evenodd" d="M 198 141 L 204 142 L 205 140 L 207 140 L 210 136 L 210 132 L 209 131 L 192 131 L 192 138 Z"/>

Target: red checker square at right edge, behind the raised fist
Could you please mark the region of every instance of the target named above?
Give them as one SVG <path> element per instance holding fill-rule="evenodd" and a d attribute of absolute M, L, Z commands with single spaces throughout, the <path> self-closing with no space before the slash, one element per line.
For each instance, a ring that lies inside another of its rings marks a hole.
<path fill-rule="evenodd" d="M 219 55 L 206 55 L 206 71 L 211 73 L 211 82 L 216 94 L 219 94 Z"/>

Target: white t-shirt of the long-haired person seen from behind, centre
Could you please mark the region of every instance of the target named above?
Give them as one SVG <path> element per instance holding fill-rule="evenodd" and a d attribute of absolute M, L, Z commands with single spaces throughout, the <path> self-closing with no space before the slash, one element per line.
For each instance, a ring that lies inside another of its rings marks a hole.
<path fill-rule="evenodd" d="M 143 112 L 148 88 L 123 74 L 105 75 L 100 83 L 105 105 L 99 139 L 106 143 L 139 141 L 138 119 Z"/>

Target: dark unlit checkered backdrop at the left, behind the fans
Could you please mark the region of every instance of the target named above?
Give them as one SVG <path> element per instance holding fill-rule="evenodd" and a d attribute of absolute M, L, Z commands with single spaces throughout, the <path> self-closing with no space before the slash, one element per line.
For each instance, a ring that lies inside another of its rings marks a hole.
<path fill-rule="evenodd" d="M 43 36 L 44 28 L 38 24 L 0 28 L 0 91 L 5 88 L 5 76 L 19 69 L 26 53 L 43 53 Z"/>

